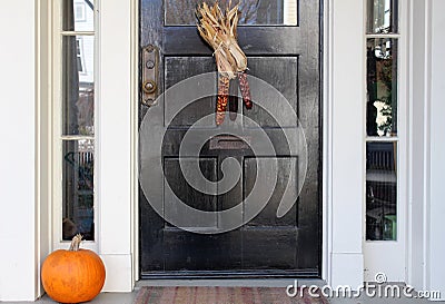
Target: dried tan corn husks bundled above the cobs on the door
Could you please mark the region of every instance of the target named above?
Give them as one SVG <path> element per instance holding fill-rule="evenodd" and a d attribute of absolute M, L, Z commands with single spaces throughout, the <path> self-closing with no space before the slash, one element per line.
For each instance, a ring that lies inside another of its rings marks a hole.
<path fill-rule="evenodd" d="M 196 10 L 198 31 L 204 40 L 214 49 L 218 71 L 229 79 L 247 69 L 247 57 L 238 46 L 238 4 L 225 11 L 218 2 L 209 7 L 202 2 Z"/>

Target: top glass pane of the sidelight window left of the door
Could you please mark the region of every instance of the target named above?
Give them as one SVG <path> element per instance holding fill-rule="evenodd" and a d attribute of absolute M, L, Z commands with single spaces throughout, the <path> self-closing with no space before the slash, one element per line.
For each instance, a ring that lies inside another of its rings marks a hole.
<path fill-rule="evenodd" d="M 62 0 L 62 29 L 66 31 L 95 30 L 93 0 Z"/>

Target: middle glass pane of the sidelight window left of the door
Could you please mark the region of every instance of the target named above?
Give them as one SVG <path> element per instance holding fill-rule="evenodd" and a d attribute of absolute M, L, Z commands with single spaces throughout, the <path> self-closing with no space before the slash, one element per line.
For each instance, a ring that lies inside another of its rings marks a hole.
<path fill-rule="evenodd" d="M 63 135 L 95 134 L 95 38 L 63 37 Z"/>

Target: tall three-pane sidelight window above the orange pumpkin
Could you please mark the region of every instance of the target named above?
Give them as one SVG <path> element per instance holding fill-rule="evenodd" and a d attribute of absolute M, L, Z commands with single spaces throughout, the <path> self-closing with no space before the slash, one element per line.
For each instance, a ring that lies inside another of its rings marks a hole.
<path fill-rule="evenodd" d="M 95 239 L 95 2 L 58 0 L 55 41 L 55 189 L 59 241 Z M 61 212 L 61 214 L 60 214 Z"/>

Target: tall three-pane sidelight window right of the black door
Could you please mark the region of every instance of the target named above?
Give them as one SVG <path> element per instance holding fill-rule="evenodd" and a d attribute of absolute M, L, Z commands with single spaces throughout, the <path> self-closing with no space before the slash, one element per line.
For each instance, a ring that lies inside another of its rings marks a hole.
<path fill-rule="evenodd" d="M 397 241 L 398 1 L 367 0 L 366 239 Z"/>

